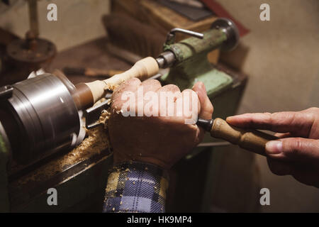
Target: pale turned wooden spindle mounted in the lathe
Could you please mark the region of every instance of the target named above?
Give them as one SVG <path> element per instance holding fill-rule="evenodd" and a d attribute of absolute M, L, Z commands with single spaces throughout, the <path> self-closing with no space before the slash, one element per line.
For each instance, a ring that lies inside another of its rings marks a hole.
<path fill-rule="evenodd" d="M 91 90 L 93 103 L 103 98 L 106 89 L 113 90 L 114 87 L 125 82 L 131 78 L 138 78 L 140 80 L 147 79 L 157 74 L 159 70 L 157 61 L 153 57 L 145 57 L 133 65 L 130 70 L 121 74 L 116 74 L 111 78 L 105 80 L 96 80 L 94 82 L 86 83 L 86 86 Z"/>

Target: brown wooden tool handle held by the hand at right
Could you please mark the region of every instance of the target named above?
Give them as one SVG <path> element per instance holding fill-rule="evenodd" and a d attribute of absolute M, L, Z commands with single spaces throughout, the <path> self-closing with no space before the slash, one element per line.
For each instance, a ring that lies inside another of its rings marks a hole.
<path fill-rule="evenodd" d="M 274 135 L 262 133 L 254 129 L 243 129 L 230 126 L 226 121 L 216 118 L 211 128 L 211 136 L 227 140 L 259 155 L 265 154 L 265 145 L 269 140 L 277 140 Z"/>

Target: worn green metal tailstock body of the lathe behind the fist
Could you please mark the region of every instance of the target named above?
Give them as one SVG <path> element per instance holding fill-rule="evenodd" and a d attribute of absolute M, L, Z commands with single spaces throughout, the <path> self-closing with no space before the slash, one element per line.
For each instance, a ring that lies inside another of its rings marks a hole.
<path fill-rule="evenodd" d="M 225 72 L 217 70 L 207 55 L 216 50 L 226 40 L 226 35 L 219 29 L 211 29 L 203 33 L 203 39 L 187 38 L 179 43 L 164 45 L 164 51 L 172 51 L 176 57 L 174 67 L 161 79 L 164 84 L 176 84 L 181 90 L 203 82 L 208 97 L 212 98 L 233 83 L 233 78 Z"/>

